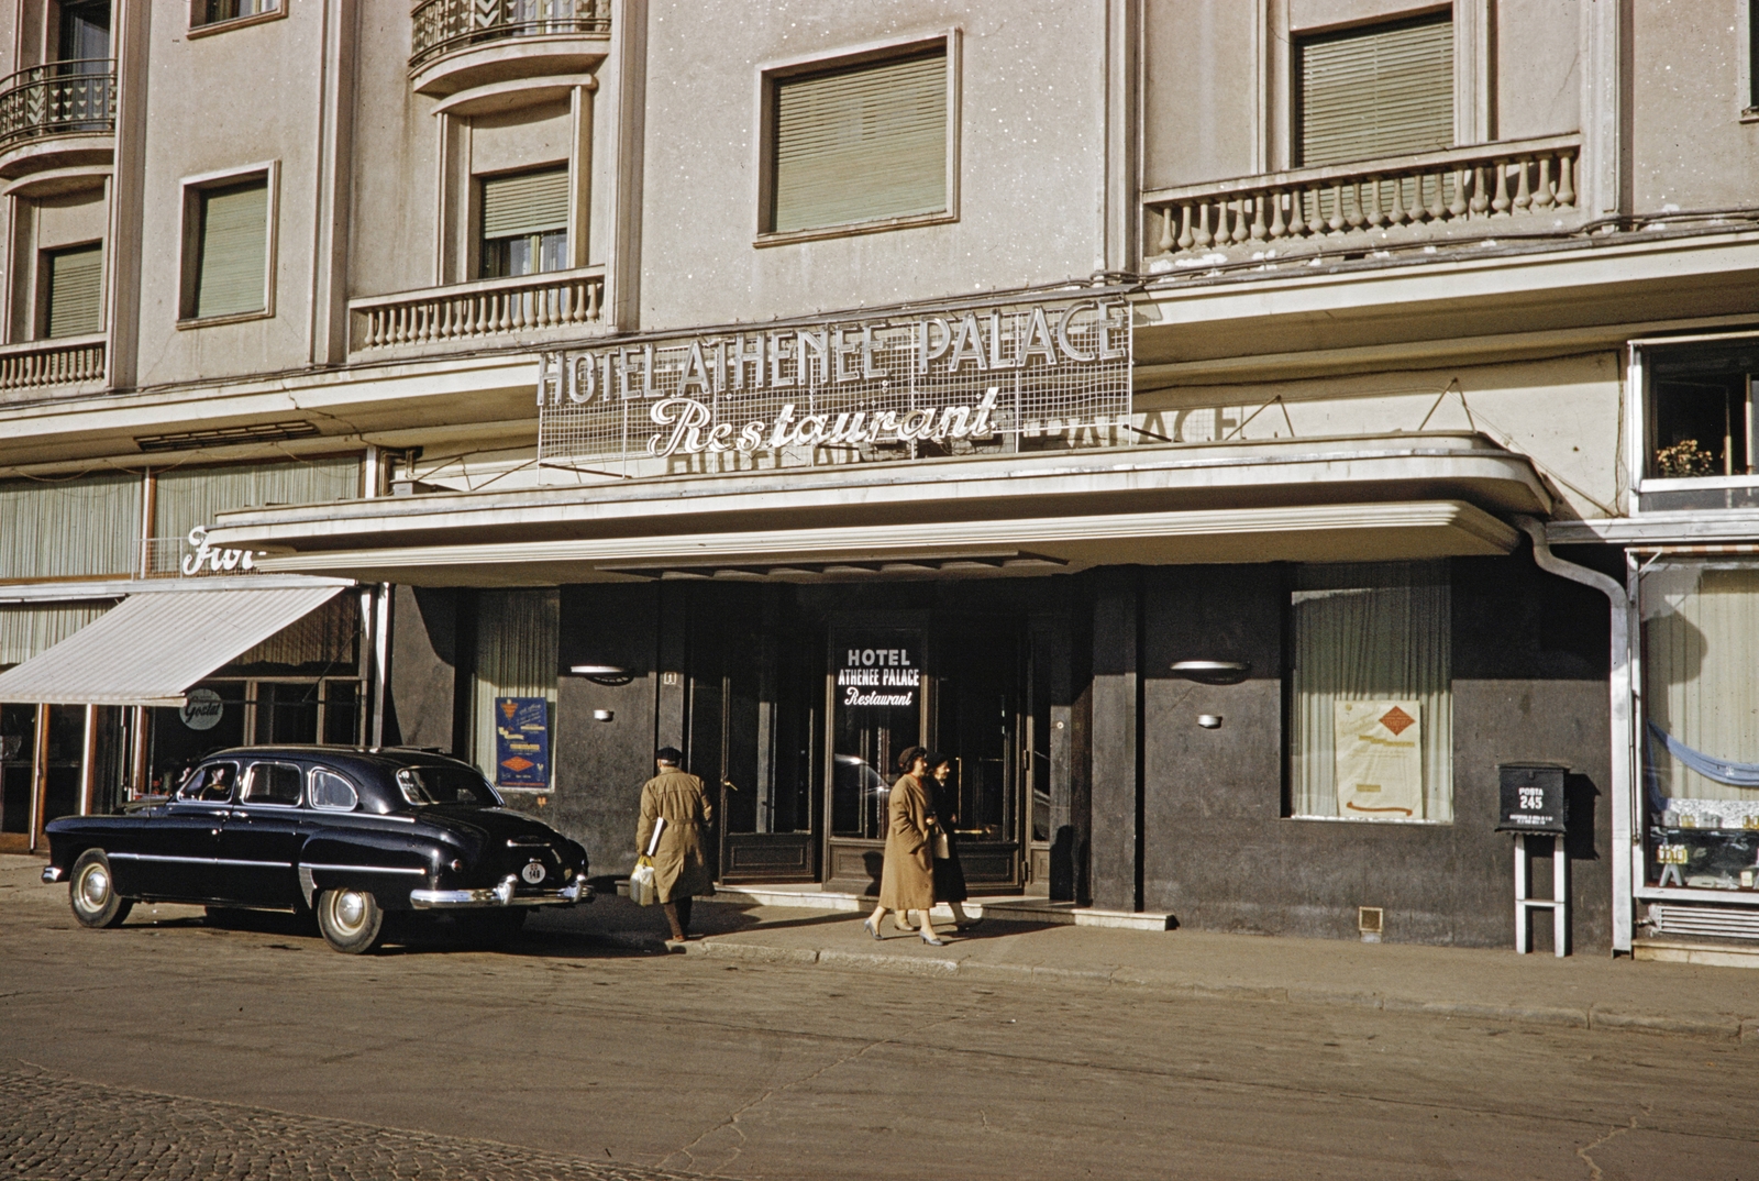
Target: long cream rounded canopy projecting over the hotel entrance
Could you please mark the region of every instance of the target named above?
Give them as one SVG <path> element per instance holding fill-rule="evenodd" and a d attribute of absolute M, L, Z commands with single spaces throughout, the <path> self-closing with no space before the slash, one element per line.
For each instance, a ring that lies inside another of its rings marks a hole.
<path fill-rule="evenodd" d="M 415 586 L 994 577 L 1509 553 L 1548 516 L 1478 435 L 1129 447 L 651 477 L 230 512 L 262 568 Z"/>

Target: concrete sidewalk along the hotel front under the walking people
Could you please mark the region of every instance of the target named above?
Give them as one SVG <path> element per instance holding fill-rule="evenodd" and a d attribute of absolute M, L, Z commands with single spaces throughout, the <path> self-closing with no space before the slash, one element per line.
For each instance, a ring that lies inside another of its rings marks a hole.
<path fill-rule="evenodd" d="M 1740 1038 L 1759 1049 L 1759 972 L 1639 963 L 1580 954 L 1354 943 L 1340 940 L 1119 931 L 987 921 L 946 947 L 892 931 L 881 942 L 862 915 L 698 899 L 690 956 L 739 963 L 816 965 L 850 972 L 934 973 L 973 982 L 1133 987 L 1263 1003 L 1347 1005 L 1583 1030 L 1636 1030 Z M 665 921 L 623 898 L 533 921 L 538 938 L 593 935 L 663 949 Z"/>

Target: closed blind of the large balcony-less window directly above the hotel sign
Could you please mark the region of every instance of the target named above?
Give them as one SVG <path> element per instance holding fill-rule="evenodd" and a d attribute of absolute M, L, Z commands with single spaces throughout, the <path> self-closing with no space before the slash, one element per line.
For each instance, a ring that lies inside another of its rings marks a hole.
<path fill-rule="evenodd" d="M 946 49 L 776 83 L 776 232 L 946 209 Z"/>

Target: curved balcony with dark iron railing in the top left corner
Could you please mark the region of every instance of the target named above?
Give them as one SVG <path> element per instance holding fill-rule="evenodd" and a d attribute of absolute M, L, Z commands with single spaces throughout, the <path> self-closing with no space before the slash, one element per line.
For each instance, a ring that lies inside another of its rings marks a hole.
<path fill-rule="evenodd" d="M 116 63 L 49 62 L 0 81 L 0 178 L 109 167 L 116 148 Z"/>

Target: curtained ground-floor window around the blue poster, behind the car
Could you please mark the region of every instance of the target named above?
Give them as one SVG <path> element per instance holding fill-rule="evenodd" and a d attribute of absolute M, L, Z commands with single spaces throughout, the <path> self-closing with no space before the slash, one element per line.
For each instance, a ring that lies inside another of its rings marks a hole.
<path fill-rule="evenodd" d="M 475 764 L 494 783 L 494 699 L 549 702 L 551 748 L 556 718 L 556 644 L 561 593 L 556 590 L 478 591 L 477 674 L 471 743 Z M 551 755 L 554 766 L 554 753 Z"/>

